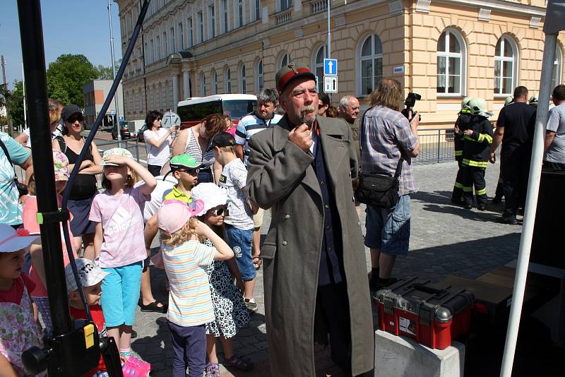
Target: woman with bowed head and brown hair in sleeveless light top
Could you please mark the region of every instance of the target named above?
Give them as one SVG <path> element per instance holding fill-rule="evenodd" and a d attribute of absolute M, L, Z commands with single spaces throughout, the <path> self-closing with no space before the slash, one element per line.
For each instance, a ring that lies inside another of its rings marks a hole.
<path fill-rule="evenodd" d="M 172 155 L 191 155 L 201 164 L 198 172 L 198 183 L 218 183 L 222 174 L 222 165 L 215 162 L 214 150 L 211 147 L 212 138 L 216 133 L 225 130 L 224 116 L 211 114 L 206 116 L 201 123 L 179 132 L 174 141 Z M 213 170 L 212 170 L 213 169 Z"/>

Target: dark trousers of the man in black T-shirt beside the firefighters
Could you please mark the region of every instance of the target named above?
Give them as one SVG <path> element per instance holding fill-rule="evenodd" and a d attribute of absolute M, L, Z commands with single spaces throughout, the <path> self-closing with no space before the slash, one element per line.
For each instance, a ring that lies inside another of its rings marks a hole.
<path fill-rule="evenodd" d="M 520 153 L 503 155 L 502 187 L 504 188 L 504 215 L 516 215 L 518 208 L 525 205 L 530 172 L 530 156 Z"/>

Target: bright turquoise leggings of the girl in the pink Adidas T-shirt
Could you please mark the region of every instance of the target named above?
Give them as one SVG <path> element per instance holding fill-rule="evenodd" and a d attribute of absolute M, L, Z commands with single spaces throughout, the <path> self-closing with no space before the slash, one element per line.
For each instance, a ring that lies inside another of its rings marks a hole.
<path fill-rule="evenodd" d="M 102 271 L 109 273 L 102 280 L 100 299 L 107 327 L 131 326 L 135 322 L 141 288 L 141 270 L 143 270 L 143 261 L 121 267 L 102 268 Z"/>

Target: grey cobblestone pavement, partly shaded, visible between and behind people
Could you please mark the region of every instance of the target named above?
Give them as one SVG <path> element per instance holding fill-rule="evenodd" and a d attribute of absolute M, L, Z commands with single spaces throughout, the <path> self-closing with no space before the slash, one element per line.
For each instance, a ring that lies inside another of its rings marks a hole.
<path fill-rule="evenodd" d="M 498 222 L 503 205 L 491 206 L 485 212 L 464 210 L 452 205 L 451 189 L 457 171 L 456 162 L 415 166 L 420 191 L 412 197 L 412 236 L 410 256 L 400 257 L 394 277 L 419 276 L 439 281 L 448 274 L 475 278 L 516 258 L 521 226 Z M 494 196 L 499 165 L 487 168 L 487 194 Z M 362 212 L 364 224 L 364 212 Z M 268 212 L 261 232 L 268 229 Z M 363 227 L 364 229 L 364 227 Z M 367 271 L 370 270 L 369 250 Z M 157 299 L 166 299 L 164 273 L 153 269 L 153 292 Z M 269 376 L 268 349 L 263 306 L 263 275 L 258 274 L 256 301 L 258 312 L 251 316 L 249 327 L 240 330 L 234 339 L 235 352 L 254 361 L 253 371 L 227 371 L 222 376 Z M 133 352 L 153 365 L 153 376 L 170 376 L 172 348 L 165 314 L 138 311 L 132 341 Z M 221 352 L 221 346 L 218 347 Z M 222 361 L 221 353 L 218 355 Z M 328 349 L 316 347 L 316 370 L 340 376 L 328 356 Z M 232 374 L 233 373 L 233 374 Z"/>

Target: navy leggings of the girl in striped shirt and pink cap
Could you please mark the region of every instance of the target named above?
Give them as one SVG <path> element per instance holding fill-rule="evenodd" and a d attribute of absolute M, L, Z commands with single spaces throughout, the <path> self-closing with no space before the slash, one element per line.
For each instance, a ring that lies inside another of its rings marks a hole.
<path fill-rule="evenodd" d="M 206 325 L 179 326 L 167 321 L 171 331 L 172 376 L 186 377 L 186 367 L 189 376 L 202 376 L 206 368 Z"/>

